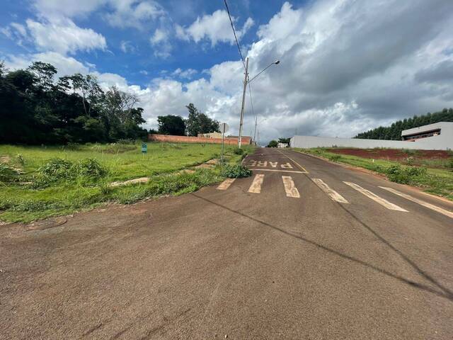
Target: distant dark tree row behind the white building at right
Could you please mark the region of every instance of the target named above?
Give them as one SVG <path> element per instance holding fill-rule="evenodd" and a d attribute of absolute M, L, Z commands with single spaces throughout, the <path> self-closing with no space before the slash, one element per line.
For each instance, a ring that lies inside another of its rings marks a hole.
<path fill-rule="evenodd" d="M 403 130 L 439 122 L 453 122 L 453 108 L 444 108 L 440 112 L 427 113 L 426 115 L 414 115 L 413 118 L 398 120 L 388 127 L 379 126 L 379 128 L 359 133 L 354 138 L 362 140 L 401 140 L 401 132 Z"/>

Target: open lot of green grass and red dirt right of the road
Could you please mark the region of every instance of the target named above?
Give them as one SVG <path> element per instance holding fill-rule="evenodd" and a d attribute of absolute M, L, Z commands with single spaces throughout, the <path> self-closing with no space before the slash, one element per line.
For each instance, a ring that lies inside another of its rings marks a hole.
<path fill-rule="evenodd" d="M 384 174 L 390 181 L 417 186 L 428 193 L 453 200 L 452 152 L 341 148 L 296 149 L 296 151 L 369 169 Z M 362 157 L 358 157 L 357 154 Z"/>

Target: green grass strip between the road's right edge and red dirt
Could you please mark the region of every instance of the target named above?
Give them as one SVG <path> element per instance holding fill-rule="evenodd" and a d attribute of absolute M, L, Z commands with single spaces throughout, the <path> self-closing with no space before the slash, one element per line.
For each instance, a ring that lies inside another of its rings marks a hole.
<path fill-rule="evenodd" d="M 346 154 L 336 154 L 327 148 L 294 149 L 306 154 L 314 154 L 333 162 L 349 164 L 384 174 L 390 181 L 417 186 L 427 193 L 433 193 L 453 200 L 453 158 L 449 160 L 429 160 L 425 166 L 408 166 L 397 161 L 367 159 Z M 430 164 L 437 169 L 430 168 Z M 438 169 L 442 164 L 442 169 Z"/>

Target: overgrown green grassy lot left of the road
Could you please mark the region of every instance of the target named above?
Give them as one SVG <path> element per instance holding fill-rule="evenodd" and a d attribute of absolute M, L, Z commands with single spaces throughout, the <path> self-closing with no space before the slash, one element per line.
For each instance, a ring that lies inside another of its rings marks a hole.
<path fill-rule="evenodd" d="M 195 191 L 224 179 L 219 166 L 178 173 L 217 158 L 220 145 L 141 143 L 23 147 L 0 145 L 0 220 L 30 222 L 104 203 Z M 225 147 L 226 161 L 243 157 Z M 246 152 L 252 147 L 247 146 Z M 113 181 L 149 177 L 148 183 L 111 187 Z"/>

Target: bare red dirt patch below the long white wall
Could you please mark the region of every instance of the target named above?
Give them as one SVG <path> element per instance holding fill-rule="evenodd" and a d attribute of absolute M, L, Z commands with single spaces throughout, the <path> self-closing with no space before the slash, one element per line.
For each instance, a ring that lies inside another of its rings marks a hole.
<path fill-rule="evenodd" d="M 414 159 L 449 159 L 451 157 L 445 150 L 407 150 L 403 149 L 328 149 L 334 154 L 348 154 L 369 159 L 386 159 L 390 161 L 401 161 L 408 157 Z"/>

